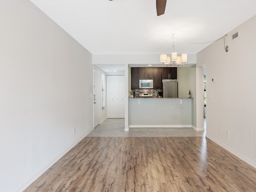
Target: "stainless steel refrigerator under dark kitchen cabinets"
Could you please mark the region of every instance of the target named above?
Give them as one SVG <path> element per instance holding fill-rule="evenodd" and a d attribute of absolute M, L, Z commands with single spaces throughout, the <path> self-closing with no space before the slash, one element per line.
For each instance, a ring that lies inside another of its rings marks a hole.
<path fill-rule="evenodd" d="M 178 82 L 170 82 L 163 80 L 163 97 L 178 98 Z"/>

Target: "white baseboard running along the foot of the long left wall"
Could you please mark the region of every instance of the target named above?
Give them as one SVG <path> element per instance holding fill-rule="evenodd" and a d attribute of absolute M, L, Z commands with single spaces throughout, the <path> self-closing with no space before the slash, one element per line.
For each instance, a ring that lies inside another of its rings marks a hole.
<path fill-rule="evenodd" d="M 88 130 L 83 136 L 78 138 L 71 146 L 69 146 L 64 152 L 59 154 L 54 160 L 52 160 L 49 164 L 47 164 L 42 170 L 40 170 L 37 174 L 32 176 L 26 183 L 24 183 L 22 186 L 20 186 L 15 192 L 22 192 L 24 191 L 30 184 L 32 184 L 38 177 L 40 177 L 46 170 L 48 170 L 51 166 L 53 166 L 54 163 L 56 163 L 62 156 L 64 156 L 68 151 L 70 151 L 76 144 L 78 144 L 83 138 L 85 138 L 90 132 L 92 132 L 93 128 Z"/>

